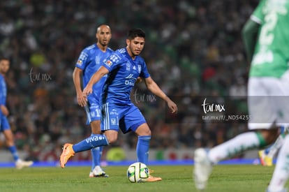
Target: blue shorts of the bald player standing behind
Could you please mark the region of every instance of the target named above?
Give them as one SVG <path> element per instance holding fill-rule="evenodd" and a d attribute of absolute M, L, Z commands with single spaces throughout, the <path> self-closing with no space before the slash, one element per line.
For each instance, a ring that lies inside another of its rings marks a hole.
<path fill-rule="evenodd" d="M 92 94 L 87 100 L 87 106 L 84 107 L 84 110 L 87 113 L 87 125 L 89 125 L 91 121 L 101 120 L 101 105 L 99 99 L 95 98 Z"/>

